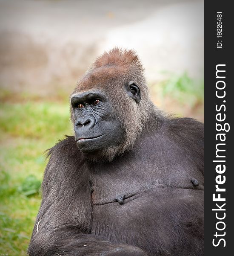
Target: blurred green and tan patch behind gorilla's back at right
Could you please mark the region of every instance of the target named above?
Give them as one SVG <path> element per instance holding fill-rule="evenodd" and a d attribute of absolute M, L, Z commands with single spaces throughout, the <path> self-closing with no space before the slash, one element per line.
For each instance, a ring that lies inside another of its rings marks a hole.
<path fill-rule="evenodd" d="M 167 113 L 204 120 L 204 79 L 192 79 L 187 72 L 180 75 L 162 72 L 164 80 L 149 85 L 154 104 Z"/>

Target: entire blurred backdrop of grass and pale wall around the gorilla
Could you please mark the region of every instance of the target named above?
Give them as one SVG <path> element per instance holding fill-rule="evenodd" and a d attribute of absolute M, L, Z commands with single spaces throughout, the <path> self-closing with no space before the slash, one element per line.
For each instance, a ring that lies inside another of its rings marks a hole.
<path fill-rule="evenodd" d="M 0 253 L 26 255 L 44 151 L 71 135 L 68 98 L 97 55 L 135 49 L 151 99 L 203 122 L 200 0 L 0 0 Z"/>

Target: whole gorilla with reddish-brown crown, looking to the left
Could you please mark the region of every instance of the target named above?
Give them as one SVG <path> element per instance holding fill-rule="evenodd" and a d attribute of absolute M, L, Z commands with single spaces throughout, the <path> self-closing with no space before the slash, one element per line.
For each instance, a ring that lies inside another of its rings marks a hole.
<path fill-rule="evenodd" d="M 204 125 L 154 106 L 133 50 L 97 58 L 70 102 L 28 254 L 203 255 Z"/>

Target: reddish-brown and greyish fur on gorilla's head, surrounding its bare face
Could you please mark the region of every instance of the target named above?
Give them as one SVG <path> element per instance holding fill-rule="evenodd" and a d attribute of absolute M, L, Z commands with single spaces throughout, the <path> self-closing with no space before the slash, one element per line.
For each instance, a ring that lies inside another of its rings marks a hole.
<path fill-rule="evenodd" d="M 124 85 L 129 81 L 134 81 L 140 88 L 139 103 L 131 99 L 124 90 Z M 126 133 L 124 142 L 118 147 L 110 146 L 103 151 L 102 157 L 112 160 L 115 155 L 123 154 L 134 144 L 154 108 L 149 99 L 144 69 L 136 53 L 119 48 L 104 52 L 80 79 L 72 95 L 94 89 L 102 91 L 111 100 L 112 114 L 120 120 Z M 71 120 L 74 123 L 72 111 Z"/>

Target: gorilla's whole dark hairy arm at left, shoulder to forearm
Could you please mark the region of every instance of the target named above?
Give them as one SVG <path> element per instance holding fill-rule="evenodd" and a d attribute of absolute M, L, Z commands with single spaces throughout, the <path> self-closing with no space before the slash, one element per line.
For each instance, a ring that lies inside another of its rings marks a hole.
<path fill-rule="evenodd" d="M 138 247 L 90 234 L 91 193 L 85 164 L 65 139 L 51 148 L 43 200 L 28 248 L 30 256 L 146 256 Z M 78 166 L 78 167 L 77 167 Z"/>

